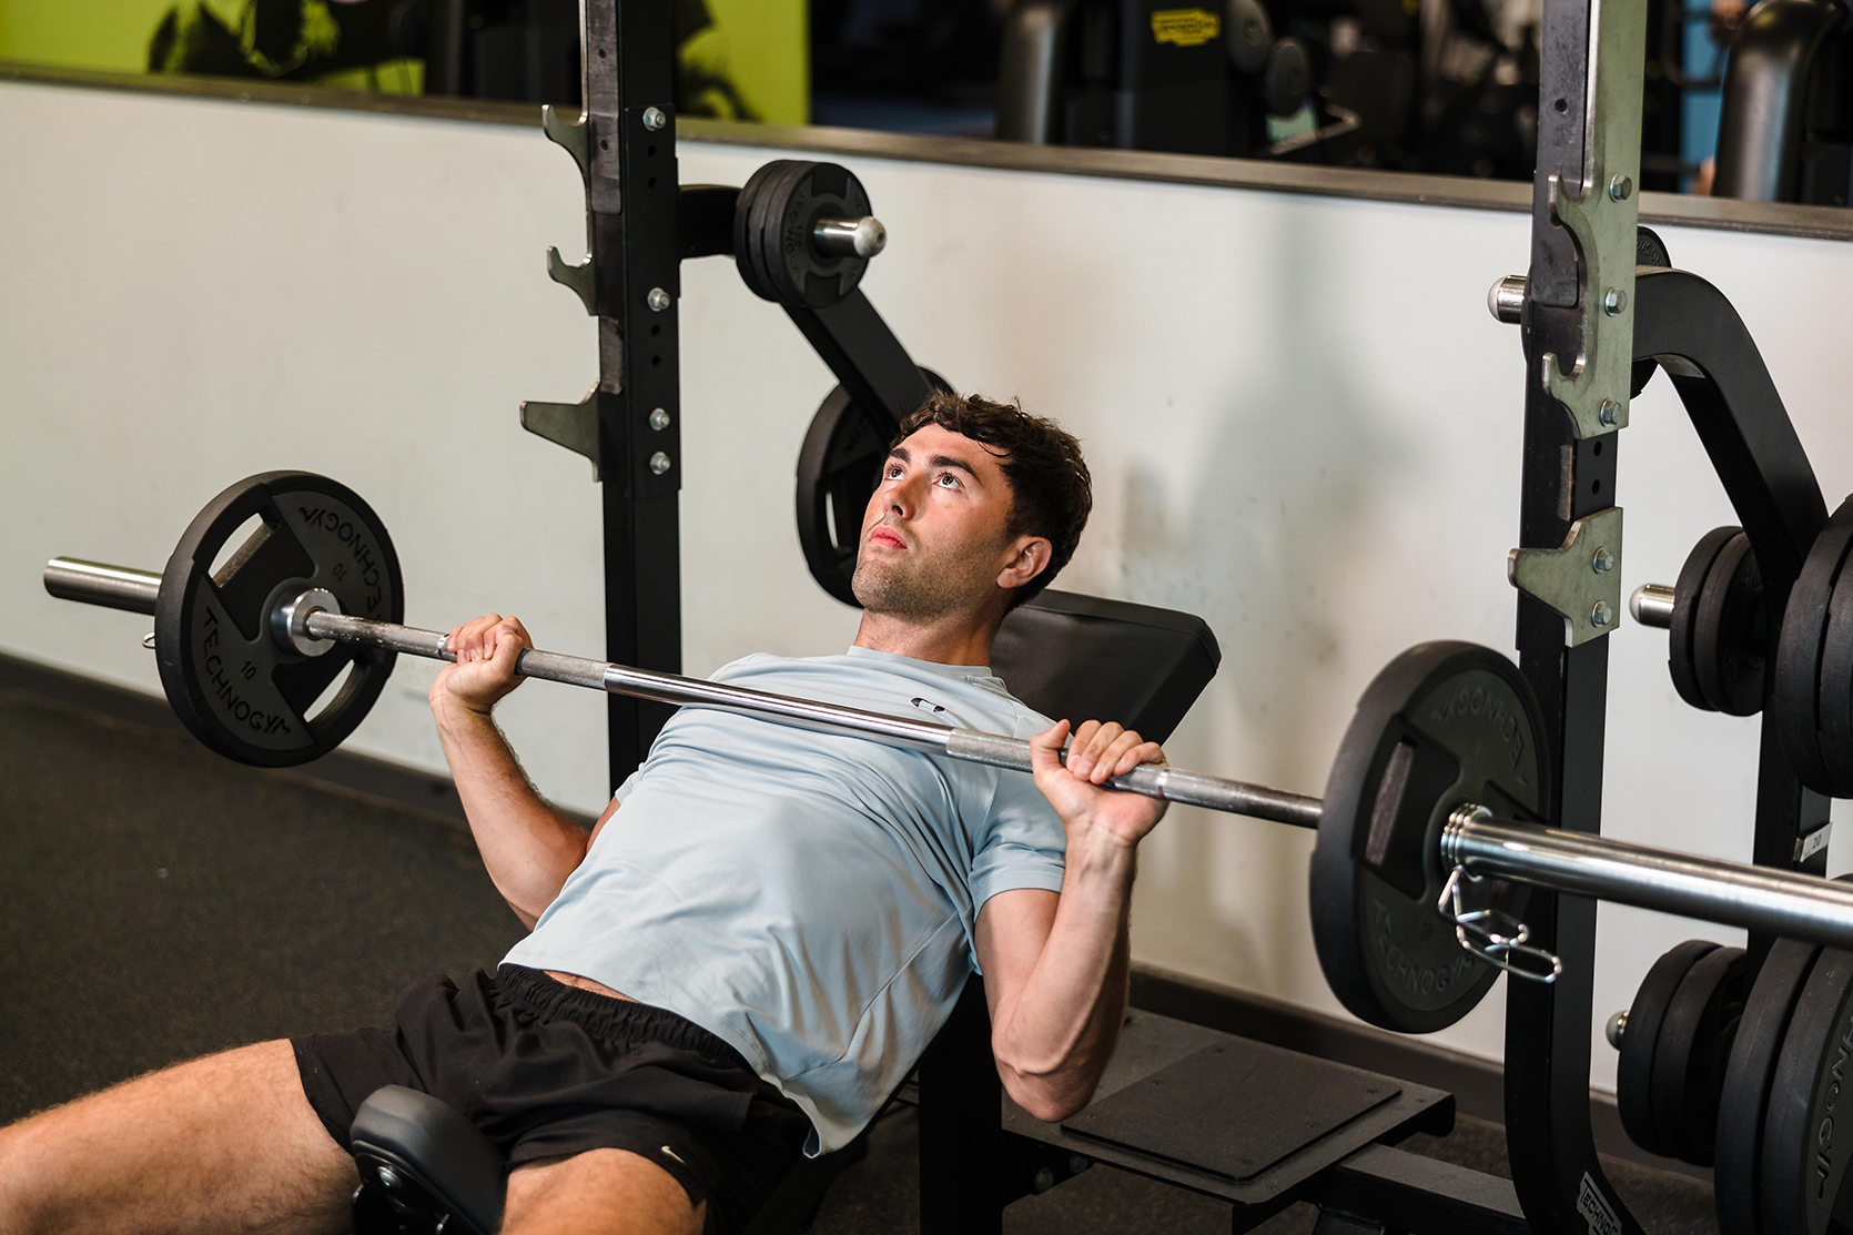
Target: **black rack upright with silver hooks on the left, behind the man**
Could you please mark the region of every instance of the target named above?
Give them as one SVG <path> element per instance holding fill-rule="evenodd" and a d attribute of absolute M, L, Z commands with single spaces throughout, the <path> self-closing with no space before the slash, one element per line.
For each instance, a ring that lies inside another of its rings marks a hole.
<path fill-rule="evenodd" d="M 586 176 L 580 265 L 550 274 L 599 321 L 599 386 L 578 404 L 523 404 L 523 425 L 593 460 L 604 484 L 606 658 L 682 669 L 682 488 L 676 306 L 673 6 L 586 0 L 584 111 L 545 113 Z M 611 695 L 613 786 L 643 760 L 671 708 Z"/>

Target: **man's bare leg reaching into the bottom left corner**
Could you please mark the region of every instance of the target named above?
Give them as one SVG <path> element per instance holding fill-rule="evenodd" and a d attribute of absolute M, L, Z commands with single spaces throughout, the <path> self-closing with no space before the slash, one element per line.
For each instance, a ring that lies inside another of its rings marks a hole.
<path fill-rule="evenodd" d="M 345 1231 L 354 1159 L 289 1042 L 208 1055 L 0 1129 L 0 1235 Z"/>

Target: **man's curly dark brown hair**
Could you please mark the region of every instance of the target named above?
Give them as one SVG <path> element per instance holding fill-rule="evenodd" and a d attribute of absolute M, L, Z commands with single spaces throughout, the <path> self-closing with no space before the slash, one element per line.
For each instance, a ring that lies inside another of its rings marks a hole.
<path fill-rule="evenodd" d="M 1010 482 L 1004 536 L 1049 540 L 1049 566 L 1010 597 L 1010 608 L 1015 608 L 1047 588 L 1067 566 L 1088 527 L 1093 477 L 1088 473 L 1088 460 L 1080 456 L 1080 441 L 1054 421 L 1030 415 L 1019 402 L 934 391 L 901 421 L 893 445 L 926 425 L 971 438 L 997 458 Z"/>

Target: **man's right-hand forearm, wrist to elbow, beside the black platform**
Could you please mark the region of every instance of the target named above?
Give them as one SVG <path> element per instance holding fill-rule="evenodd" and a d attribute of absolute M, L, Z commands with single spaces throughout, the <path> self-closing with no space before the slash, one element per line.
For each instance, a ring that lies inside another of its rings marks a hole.
<path fill-rule="evenodd" d="M 997 1009 L 991 1046 L 1012 1096 L 1038 1118 L 1064 1118 L 1093 1094 L 1127 1011 L 1134 851 L 1069 847 L 1062 896 L 1036 968 Z"/>

